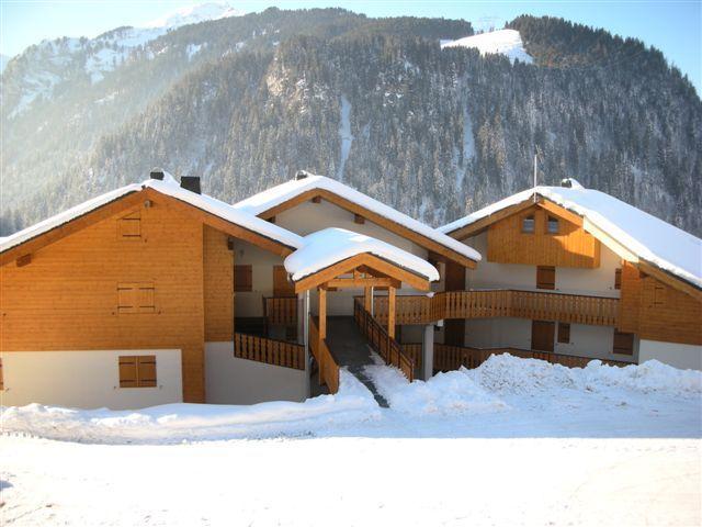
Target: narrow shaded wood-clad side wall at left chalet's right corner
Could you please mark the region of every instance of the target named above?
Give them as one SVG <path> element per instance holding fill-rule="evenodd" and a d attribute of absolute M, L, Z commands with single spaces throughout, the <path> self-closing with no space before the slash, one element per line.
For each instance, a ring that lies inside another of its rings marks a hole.
<path fill-rule="evenodd" d="M 234 251 L 225 233 L 203 227 L 205 340 L 228 341 L 234 335 Z"/>

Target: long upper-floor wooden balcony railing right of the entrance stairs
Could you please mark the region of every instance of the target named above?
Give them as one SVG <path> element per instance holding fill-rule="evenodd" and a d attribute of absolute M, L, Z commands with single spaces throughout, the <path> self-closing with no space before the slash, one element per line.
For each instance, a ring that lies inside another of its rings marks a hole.
<path fill-rule="evenodd" d="M 433 296 L 397 296 L 397 324 L 431 324 L 442 318 L 513 316 L 536 321 L 616 326 L 619 299 L 511 289 L 445 291 Z M 387 296 L 374 299 L 373 316 L 387 323 Z"/>

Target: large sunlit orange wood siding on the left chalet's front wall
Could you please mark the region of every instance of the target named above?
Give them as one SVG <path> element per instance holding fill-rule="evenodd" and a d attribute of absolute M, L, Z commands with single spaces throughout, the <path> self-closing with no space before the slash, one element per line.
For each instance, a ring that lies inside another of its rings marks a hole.
<path fill-rule="evenodd" d="M 141 203 L 0 268 L 0 349 L 179 348 L 183 400 L 203 402 L 203 226 L 158 194 Z M 140 213 L 139 242 L 116 236 L 125 212 Z M 154 313 L 118 313 L 117 284 L 128 282 L 154 283 Z"/>

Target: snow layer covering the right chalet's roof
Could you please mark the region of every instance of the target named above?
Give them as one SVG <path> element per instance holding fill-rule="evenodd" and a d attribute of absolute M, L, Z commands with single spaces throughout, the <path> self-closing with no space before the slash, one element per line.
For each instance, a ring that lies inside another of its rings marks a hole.
<path fill-rule="evenodd" d="M 702 288 L 702 239 L 612 195 L 570 182 L 571 188 L 539 186 L 518 192 L 439 231 L 452 233 L 539 194 L 582 216 L 638 258 Z"/>

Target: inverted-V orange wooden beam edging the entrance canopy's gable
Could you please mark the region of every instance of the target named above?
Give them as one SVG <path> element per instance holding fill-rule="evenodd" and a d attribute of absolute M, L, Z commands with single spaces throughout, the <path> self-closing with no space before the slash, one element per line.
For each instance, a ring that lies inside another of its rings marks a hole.
<path fill-rule="evenodd" d="M 387 274 L 399 282 L 405 282 L 415 289 L 420 291 L 429 291 L 429 280 L 411 271 L 403 269 L 394 264 L 388 262 L 382 258 L 371 255 L 370 253 L 363 253 L 355 255 L 337 264 L 321 269 L 313 274 L 309 274 L 295 282 L 295 292 L 302 293 L 308 289 L 319 287 L 327 283 L 339 276 L 351 272 L 353 269 L 360 266 L 367 266 L 380 272 Z"/>

